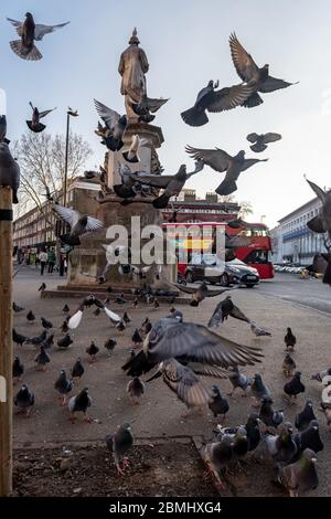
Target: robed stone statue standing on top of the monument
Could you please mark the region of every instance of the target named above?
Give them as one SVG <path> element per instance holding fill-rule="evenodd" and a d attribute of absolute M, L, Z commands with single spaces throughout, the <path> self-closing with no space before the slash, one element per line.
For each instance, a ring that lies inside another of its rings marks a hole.
<path fill-rule="evenodd" d="M 127 116 L 131 123 L 138 123 L 139 119 L 131 105 L 138 104 L 141 96 L 147 93 L 145 74 L 149 70 L 149 64 L 139 43 L 135 28 L 129 46 L 121 53 L 118 65 L 118 72 L 121 75 L 120 93 L 125 95 Z"/>

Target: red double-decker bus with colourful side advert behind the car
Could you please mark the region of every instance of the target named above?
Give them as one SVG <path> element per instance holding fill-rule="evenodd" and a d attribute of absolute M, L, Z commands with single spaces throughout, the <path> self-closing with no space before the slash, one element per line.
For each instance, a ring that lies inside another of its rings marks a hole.
<path fill-rule="evenodd" d="M 227 222 L 182 222 L 163 223 L 162 226 L 167 231 L 168 239 L 173 242 L 178 271 L 182 276 L 192 254 L 213 250 L 215 230 L 217 226 L 223 226 L 227 236 L 245 236 L 249 240 L 246 246 L 235 250 L 235 256 L 256 268 L 260 279 L 274 277 L 274 266 L 270 261 L 271 241 L 268 227 L 263 223 L 241 222 L 236 227 L 232 227 Z M 188 235 L 188 229 L 192 229 L 192 236 Z"/>

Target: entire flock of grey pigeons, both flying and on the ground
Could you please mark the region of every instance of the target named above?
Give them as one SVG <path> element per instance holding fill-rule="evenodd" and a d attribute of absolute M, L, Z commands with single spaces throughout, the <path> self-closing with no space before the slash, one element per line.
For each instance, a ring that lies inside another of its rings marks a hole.
<path fill-rule="evenodd" d="M 20 57 L 24 60 L 40 60 L 42 54 L 35 45 L 35 42 L 42 41 L 45 34 L 63 28 L 67 23 L 60 25 L 35 24 L 31 13 L 26 13 L 23 22 L 10 20 L 17 29 L 19 40 L 10 42 L 10 46 Z M 253 57 L 241 45 L 235 34 L 229 38 L 232 60 L 237 74 L 243 83 L 225 88 L 218 88 L 218 83 L 211 81 L 203 88 L 196 98 L 194 106 L 181 114 L 182 119 L 191 126 L 202 126 L 209 121 L 206 112 L 223 112 L 237 106 L 248 108 L 258 106 L 263 103 L 260 93 L 270 93 L 279 88 L 286 88 L 291 85 L 282 80 L 269 75 L 268 65 L 258 67 Z M 167 99 L 166 99 L 167 100 Z M 164 99 L 149 99 L 142 96 L 139 104 L 132 106 L 134 110 L 141 117 L 140 120 L 150 121 L 164 103 Z M 119 150 L 122 146 L 122 136 L 128 126 L 126 115 L 120 116 L 99 102 L 96 102 L 97 112 L 105 123 L 105 127 L 99 125 L 98 135 L 103 137 L 103 142 L 113 151 Z M 32 119 L 26 124 L 32 131 L 43 131 L 45 126 L 40 119 L 52 110 L 39 112 L 30 103 L 33 110 Z M 8 140 L 6 139 L 6 118 L 0 120 L 0 182 L 11 186 L 13 189 L 13 201 L 17 202 L 17 189 L 19 182 L 19 170 L 15 161 L 12 159 Z M 279 140 L 279 134 L 269 133 L 265 135 L 249 134 L 248 141 L 250 149 L 255 152 L 264 151 L 267 144 Z M 139 160 L 139 146 L 141 142 L 138 136 L 132 139 L 130 149 L 126 152 L 126 159 L 130 161 Z M 169 200 L 178 194 L 183 188 L 188 178 L 201 171 L 204 165 L 210 166 L 215 171 L 226 172 L 225 179 L 216 189 L 218 194 L 229 194 L 237 189 L 236 181 L 242 171 L 258 162 L 258 159 L 245 159 L 245 152 L 239 151 L 235 157 L 229 156 L 221 149 L 197 149 L 188 146 L 188 153 L 196 160 L 195 169 L 192 173 L 186 173 L 185 166 L 181 166 L 175 176 L 160 176 L 146 172 L 131 173 L 129 168 L 120 171 L 122 184 L 118 187 L 117 194 L 124 199 L 134 199 L 137 193 L 137 183 L 163 189 L 161 197 L 156 198 L 153 205 L 157 209 L 167 206 Z M 266 160 L 266 159 L 264 159 Z M 331 236 L 331 203 L 330 194 L 324 193 L 312 182 L 309 182 L 317 195 L 321 199 L 323 208 L 319 216 L 309 222 L 308 225 L 314 232 L 328 232 Z M 141 192 L 141 191 L 140 191 Z M 85 232 L 92 232 L 100 229 L 103 225 L 97 219 L 87 215 L 81 215 L 77 211 L 54 204 L 54 211 L 71 225 L 71 232 L 65 235 L 64 242 L 71 245 L 79 245 L 79 236 Z M 329 236 L 329 237 L 330 237 Z M 331 268 L 330 268 L 331 271 Z M 331 274 L 330 274 L 331 276 Z M 179 285 L 179 288 L 183 289 Z M 43 284 L 40 290 L 45 289 Z M 111 293 L 110 287 L 108 288 Z M 199 306 L 205 297 L 221 295 L 222 290 L 210 290 L 205 284 L 199 288 L 186 289 L 192 293 L 191 306 Z M 142 294 L 136 289 L 136 299 L 132 308 L 139 304 L 139 299 L 145 296 L 149 304 L 154 308 L 159 307 L 156 297 Z M 64 322 L 61 327 L 63 337 L 57 340 L 57 348 L 68 348 L 73 340 L 70 331 L 76 329 L 82 322 L 84 313 L 95 307 L 94 314 L 97 316 L 104 311 L 110 321 L 120 332 L 131 322 L 131 317 L 127 311 L 122 316 L 110 310 L 109 297 L 100 301 L 95 296 L 86 297 L 78 308 L 70 315 L 70 308 L 64 306 Z M 125 295 L 116 295 L 115 303 L 120 305 L 126 303 Z M 24 309 L 13 304 L 13 311 L 20 313 Z M 221 300 L 210 319 L 209 326 L 185 322 L 183 314 L 171 308 L 170 315 L 152 324 L 147 317 L 140 328 L 137 328 L 132 335 L 132 349 L 130 358 L 122 366 L 122 370 L 130 377 L 127 391 L 134 402 L 139 401 L 145 392 L 145 383 L 141 375 L 157 368 L 154 373 L 148 379 L 151 381 L 162 377 L 164 383 L 177 394 L 188 409 L 209 405 L 215 420 L 224 419 L 229 410 L 228 401 L 221 394 L 220 389 L 213 385 L 211 389 L 204 385 L 197 375 L 210 375 L 214 378 L 227 378 L 232 383 L 233 394 L 241 390 L 246 395 L 250 390 L 254 399 L 254 405 L 257 412 L 250 414 L 245 425 L 237 427 L 223 427 L 220 423 L 213 432 L 213 439 L 206 443 L 202 449 L 202 455 L 209 466 L 209 469 L 216 478 L 217 485 L 223 488 L 222 476 L 226 469 L 238 463 L 248 453 L 255 451 L 261 443 L 266 446 L 269 455 L 275 462 L 277 468 L 276 480 L 285 486 L 291 496 L 316 488 L 318 486 L 318 475 L 316 469 L 316 454 L 323 448 L 319 436 L 319 424 L 316 419 L 312 403 L 307 400 L 302 411 L 300 411 L 295 421 L 297 432 L 290 423 L 285 421 L 284 411 L 273 407 L 273 398 L 269 389 L 265 385 L 259 373 L 253 379 L 245 375 L 241 368 L 246 364 L 260 362 L 263 358 L 259 347 L 248 347 L 216 335 L 212 329 L 217 328 L 224 321 L 233 317 L 243 320 L 249 325 L 252 332 L 256 337 L 270 336 L 267 330 L 257 326 L 242 310 L 234 305 L 231 296 Z M 35 321 L 32 310 L 26 314 L 29 322 Z M 23 345 L 33 345 L 38 349 L 35 363 L 38 369 L 44 370 L 50 362 L 47 350 L 53 347 L 54 333 L 47 335 L 53 329 L 53 324 L 46 318 L 41 319 L 43 331 L 35 337 L 25 337 L 15 329 L 12 331 L 13 341 L 22 347 Z M 284 385 L 284 392 L 288 401 L 295 401 L 297 395 L 305 393 L 305 385 L 300 380 L 300 372 L 296 371 L 296 362 L 292 353 L 296 347 L 296 337 L 288 328 L 285 336 L 286 357 L 282 363 L 282 371 L 288 378 Z M 111 353 L 116 347 L 116 339 L 110 338 L 105 342 L 105 348 Z M 138 352 L 136 350 L 139 350 Z M 96 360 L 99 348 L 92 342 L 86 352 L 90 362 Z M 21 380 L 24 374 L 24 367 L 19 357 L 14 358 L 13 378 Z M 81 392 L 71 395 L 74 383 L 73 380 L 84 377 L 84 366 L 78 358 L 71 368 L 71 375 L 67 371 L 61 370 L 57 380 L 54 382 L 54 389 L 58 392 L 61 403 L 67 405 L 72 421 L 76 420 L 77 413 L 83 413 L 84 419 L 89 421 L 87 411 L 92 404 L 88 388 L 85 386 Z M 313 375 L 314 379 L 322 382 L 327 390 L 322 392 L 321 409 L 324 411 L 327 423 L 331 430 L 331 396 L 328 394 L 328 385 L 331 381 L 331 368 Z M 68 399 L 68 400 L 67 400 Z M 323 400 L 324 399 L 324 400 Z M 30 416 L 34 407 L 34 394 L 23 384 L 14 396 L 14 404 L 19 411 Z M 36 402 L 38 404 L 38 402 Z M 107 447 L 114 455 L 114 460 L 119 474 L 124 474 L 128 464 L 127 454 L 134 444 L 134 436 L 129 424 L 124 424 L 106 438 Z"/>

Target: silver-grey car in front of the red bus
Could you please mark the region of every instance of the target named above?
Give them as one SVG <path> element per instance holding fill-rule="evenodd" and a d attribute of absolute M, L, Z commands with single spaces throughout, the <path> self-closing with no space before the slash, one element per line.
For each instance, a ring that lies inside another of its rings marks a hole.
<path fill-rule="evenodd" d="M 216 254 L 196 254 L 186 266 L 185 279 L 188 283 L 206 280 L 222 286 L 239 284 L 250 288 L 259 283 L 259 275 L 256 268 L 241 260 L 225 263 Z"/>

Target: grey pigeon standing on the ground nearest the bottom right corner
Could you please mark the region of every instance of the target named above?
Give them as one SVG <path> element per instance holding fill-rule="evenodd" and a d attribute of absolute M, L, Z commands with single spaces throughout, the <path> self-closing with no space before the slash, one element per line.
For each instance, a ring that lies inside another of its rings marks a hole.
<path fill-rule="evenodd" d="M 299 497 L 318 487 L 316 462 L 316 453 L 307 448 L 300 459 L 279 469 L 278 481 L 289 491 L 290 497 Z"/>

